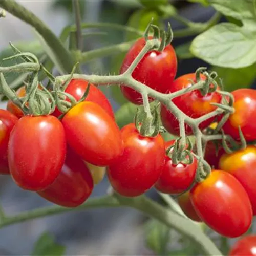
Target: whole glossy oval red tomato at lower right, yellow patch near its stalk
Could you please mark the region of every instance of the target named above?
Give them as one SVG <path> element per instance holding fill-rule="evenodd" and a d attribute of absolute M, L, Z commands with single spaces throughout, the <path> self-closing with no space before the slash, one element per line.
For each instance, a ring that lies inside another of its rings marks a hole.
<path fill-rule="evenodd" d="M 251 225 L 252 209 L 244 187 L 222 170 L 214 170 L 196 184 L 190 199 L 202 221 L 222 236 L 239 237 Z"/>

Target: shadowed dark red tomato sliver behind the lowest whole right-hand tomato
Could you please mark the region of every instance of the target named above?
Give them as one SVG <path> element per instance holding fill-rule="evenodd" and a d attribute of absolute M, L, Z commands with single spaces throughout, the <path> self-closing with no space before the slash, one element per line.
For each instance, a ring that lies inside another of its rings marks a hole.
<path fill-rule="evenodd" d="M 200 217 L 197 215 L 191 200 L 189 198 L 189 191 L 178 197 L 178 203 L 184 214 L 193 221 L 201 222 Z"/>

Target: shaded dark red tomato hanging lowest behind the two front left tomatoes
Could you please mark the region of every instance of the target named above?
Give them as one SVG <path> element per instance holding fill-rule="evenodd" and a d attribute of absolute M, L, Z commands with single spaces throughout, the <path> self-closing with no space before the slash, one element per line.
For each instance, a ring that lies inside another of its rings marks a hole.
<path fill-rule="evenodd" d="M 90 170 L 70 148 L 57 179 L 45 190 L 37 192 L 48 201 L 65 206 L 77 207 L 86 201 L 93 190 Z"/>

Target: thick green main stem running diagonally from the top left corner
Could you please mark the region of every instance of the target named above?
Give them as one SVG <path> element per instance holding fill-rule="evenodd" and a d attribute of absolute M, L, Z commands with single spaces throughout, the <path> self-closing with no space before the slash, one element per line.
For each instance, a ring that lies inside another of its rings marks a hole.
<path fill-rule="evenodd" d="M 22 5 L 18 4 L 16 1 L 1 0 L 0 7 L 34 27 L 45 39 L 52 51 L 56 54 L 59 61 L 65 67 L 66 72 L 71 72 L 73 66 L 75 65 L 72 55 L 64 47 L 58 37 L 48 28 L 48 26 L 46 26 L 46 24 L 44 24 L 36 15 Z"/>

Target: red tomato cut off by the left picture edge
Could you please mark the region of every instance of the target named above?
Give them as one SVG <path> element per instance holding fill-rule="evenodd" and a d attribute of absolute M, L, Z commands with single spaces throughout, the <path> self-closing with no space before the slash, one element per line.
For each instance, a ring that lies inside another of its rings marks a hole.
<path fill-rule="evenodd" d="M 0 174 L 9 174 L 8 143 L 10 133 L 18 118 L 7 110 L 0 109 Z"/>

